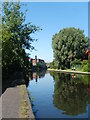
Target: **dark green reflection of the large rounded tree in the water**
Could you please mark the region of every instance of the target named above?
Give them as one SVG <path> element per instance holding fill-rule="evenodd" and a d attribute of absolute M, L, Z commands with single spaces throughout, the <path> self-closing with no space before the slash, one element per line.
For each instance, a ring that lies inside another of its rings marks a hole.
<path fill-rule="evenodd" d="M 50 73 L 55 80 L 53 103 L 67 115 L 78 115 L 86 112 L 88 93 L 80 78 L 72 79 L 70 74 Z"/>

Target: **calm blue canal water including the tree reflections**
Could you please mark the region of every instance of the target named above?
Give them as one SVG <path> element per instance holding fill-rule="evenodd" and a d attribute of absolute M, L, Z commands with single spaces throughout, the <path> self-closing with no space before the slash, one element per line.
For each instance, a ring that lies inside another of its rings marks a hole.
<path fill-rule="evenodd" d="M 27 90 L 36 118 L 88 118 L 88 75 L 42 71 L 29 79 Z"/>

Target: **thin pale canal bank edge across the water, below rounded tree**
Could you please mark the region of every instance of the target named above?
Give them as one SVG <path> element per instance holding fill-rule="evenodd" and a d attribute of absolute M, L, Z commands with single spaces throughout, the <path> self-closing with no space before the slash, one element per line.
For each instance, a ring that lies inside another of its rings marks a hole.
<path fill-rule="evenodd" d="M 47 70 L 48 71 L 63 72 L 63 73 L 73 73 L 73 74 L 90 75 L 90 72 L 70 71 L 70 70 L 58 70 L 58 69 L 47 69 Z"/>

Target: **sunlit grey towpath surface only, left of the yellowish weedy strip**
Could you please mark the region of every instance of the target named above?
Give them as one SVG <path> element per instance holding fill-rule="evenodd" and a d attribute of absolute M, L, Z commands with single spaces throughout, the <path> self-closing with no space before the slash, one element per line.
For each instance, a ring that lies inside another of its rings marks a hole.
<path fill-rule="evenodd" d="M 8 88 L 2 95 L 2 118 L 19 118 L 20 86 Z"/>

